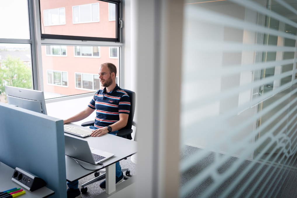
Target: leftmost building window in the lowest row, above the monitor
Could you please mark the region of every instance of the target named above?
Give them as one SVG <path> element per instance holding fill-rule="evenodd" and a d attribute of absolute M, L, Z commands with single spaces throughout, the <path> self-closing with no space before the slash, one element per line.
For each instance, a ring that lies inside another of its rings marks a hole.
<path fill-rule="evenodd" d="M 48 85 L 68 87 L 68 73 L 48 70 Z"/>

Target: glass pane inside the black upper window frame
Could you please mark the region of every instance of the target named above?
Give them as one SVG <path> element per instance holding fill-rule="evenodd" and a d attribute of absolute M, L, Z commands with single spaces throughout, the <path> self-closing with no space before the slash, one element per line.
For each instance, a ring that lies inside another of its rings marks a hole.
<path fill-rule="evenodd" d="M 42 34 L 116 38 L 116 4 L 40 0 L 40 12 Z"/>

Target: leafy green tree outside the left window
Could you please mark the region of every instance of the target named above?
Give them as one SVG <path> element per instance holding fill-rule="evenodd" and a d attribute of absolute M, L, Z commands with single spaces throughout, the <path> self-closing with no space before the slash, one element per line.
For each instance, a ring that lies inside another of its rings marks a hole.
<path fill-rule="evenodd" d="M 13 87 L 32 89 L 31 69 L 20 58 L 7 56 L 0 67 L 0 91 L 5 92 L 5 84 Z"/>

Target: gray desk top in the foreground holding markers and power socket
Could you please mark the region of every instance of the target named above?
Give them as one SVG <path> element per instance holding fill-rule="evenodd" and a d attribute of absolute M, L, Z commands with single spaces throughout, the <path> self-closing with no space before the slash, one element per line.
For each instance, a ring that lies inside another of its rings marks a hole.
<path fill-rule="evenodd" d="M 36 191 L 30 192 L 29 190 L 25 189 L 23 186 L 18 185 L 17 183 L 13 182 L 11 180 L 12 175 L 13 175 L 14 169 L 7 166 L 6 164 L 3 164 L 0 162 L 0 192 L 6 191 L 8 189 L 12 188 L 20 188 L 26 191 L 25 194 L 20 195 L 18 197 L 26 198 L 42 198 L 42 197 L 48 197 L 55 192 L 48 189 L 47 187 L 42 187 Z"/>

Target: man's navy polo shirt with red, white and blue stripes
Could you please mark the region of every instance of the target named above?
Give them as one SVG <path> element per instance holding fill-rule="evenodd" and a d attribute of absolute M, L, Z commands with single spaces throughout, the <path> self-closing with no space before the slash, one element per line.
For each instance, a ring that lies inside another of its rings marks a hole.
<path fill-rule="evenodd" d="M 118 85 L 106 93 L 106 88 L 96 92 L 88 107 L 96 109 L 94 126 L 103 128 L 120 120 L 120 113 L 130 113 L 130 97 Z"/>

